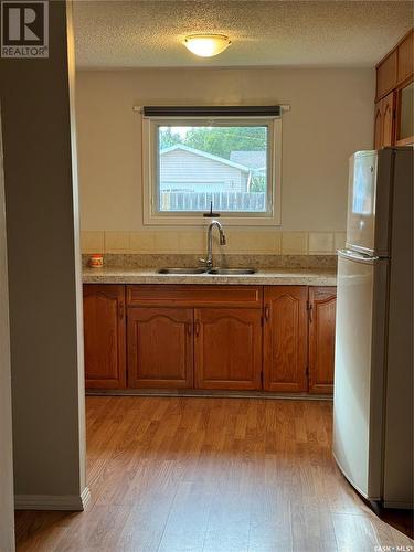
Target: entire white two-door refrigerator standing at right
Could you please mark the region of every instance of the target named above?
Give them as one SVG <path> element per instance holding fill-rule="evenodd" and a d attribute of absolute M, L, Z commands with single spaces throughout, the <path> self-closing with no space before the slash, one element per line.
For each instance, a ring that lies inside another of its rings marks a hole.
<path fill-rule="evenodd" d="M 350 159 L 338 251 L 333 456 L 350 484 L 413 507 L 413 148 Z"/>

